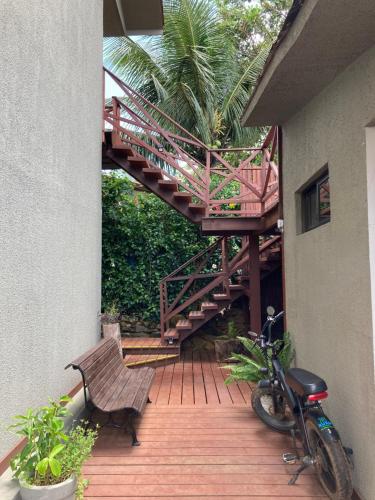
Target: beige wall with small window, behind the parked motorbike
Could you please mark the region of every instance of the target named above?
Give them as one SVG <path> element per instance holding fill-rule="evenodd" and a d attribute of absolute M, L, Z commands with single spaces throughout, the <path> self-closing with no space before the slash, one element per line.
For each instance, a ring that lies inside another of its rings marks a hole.
<path fill-rule="evenodd" d="M 324 407 L 345 445 L 354 449 L 355 486 L 367 500 L 375 493 L 366 179 L 366 126 L 374 119 L 375 48 L 283 127 L 288 329 L 295 337 L 297 365 L 328 383 Z M 327 162 L 331 222 L 297 234 L 295 193 Z"/>

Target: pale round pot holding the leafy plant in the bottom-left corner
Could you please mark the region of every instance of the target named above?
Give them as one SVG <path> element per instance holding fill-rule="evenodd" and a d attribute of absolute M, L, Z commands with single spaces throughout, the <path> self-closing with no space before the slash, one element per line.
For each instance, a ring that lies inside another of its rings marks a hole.
<path fill-rule="evenodd" d="M 33 486 L 20 480 L 22 500 L 74 500 L 76 489 L 77 478 L 75 476 L 51 486 Z"/>

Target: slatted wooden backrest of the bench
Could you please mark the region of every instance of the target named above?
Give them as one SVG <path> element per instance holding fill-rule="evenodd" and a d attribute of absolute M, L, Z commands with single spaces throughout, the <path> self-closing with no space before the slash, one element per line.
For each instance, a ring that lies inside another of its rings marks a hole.
<path fill-rule="evenodd" d="M 83 376 L 84 384 L 93 400 L 98 399 L 111 386 L 123 371 L 128 371 L 124 365 L 115 339 L 106 338 L 82 356 L 72 361 L 66 368 L 72 366 Z"/>

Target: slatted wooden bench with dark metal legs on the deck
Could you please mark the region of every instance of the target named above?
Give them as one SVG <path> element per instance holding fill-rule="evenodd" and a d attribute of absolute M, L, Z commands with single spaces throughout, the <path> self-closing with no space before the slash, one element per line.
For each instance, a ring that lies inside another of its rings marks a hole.
<path fill-rule="evenodd" d="M 148 395 L 155 370 L 127 368 L 113 338 L 103 339 L 65 369 L 70 366 L 81 372 L 90 421 L 96 408 L 107 413 L 107 425 L 125 428 L 132 435 L 133 446 L 139 446 L 133 420 L 150 402 Z M 120 411 L 124 411 L 126 417 L 123 425 L 115 424 L 112 419 L 113 414 Z"/>

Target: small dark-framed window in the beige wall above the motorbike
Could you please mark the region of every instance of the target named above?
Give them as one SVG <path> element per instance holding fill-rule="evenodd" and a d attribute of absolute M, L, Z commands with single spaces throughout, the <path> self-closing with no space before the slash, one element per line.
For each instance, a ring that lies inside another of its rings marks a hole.
<path fill-rule="evenodd" d="M 302 232 L 331 220 L 328 171 L 301 192 Z"/>

